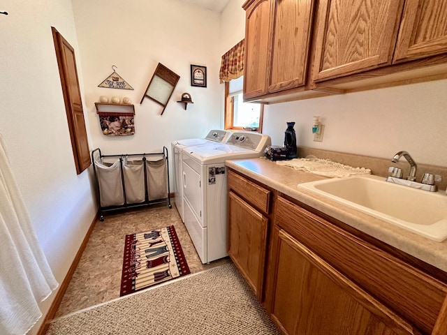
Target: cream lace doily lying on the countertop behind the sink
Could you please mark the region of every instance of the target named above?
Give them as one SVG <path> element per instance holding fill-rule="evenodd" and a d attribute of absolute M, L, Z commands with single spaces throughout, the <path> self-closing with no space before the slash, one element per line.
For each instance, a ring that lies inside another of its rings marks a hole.
<path fill-rule="evenodd" d="M 277 161 L 278 165 L 291 166 L 297 170 L 305 170 L 323 177 L 349 177 L 354 174 L 371 174 L 371 170 L 366 168 L 353 168 L 321 158 L 295 158 L 290 161 Z"/>

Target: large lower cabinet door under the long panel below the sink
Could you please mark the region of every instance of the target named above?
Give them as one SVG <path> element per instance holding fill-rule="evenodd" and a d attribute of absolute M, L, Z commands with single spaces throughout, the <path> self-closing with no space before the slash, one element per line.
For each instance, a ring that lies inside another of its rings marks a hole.
<path fill-rule="evenodd" d="M 284 230 L 274 237 L 271 313 L 285 334 L 418 334 Z"/>

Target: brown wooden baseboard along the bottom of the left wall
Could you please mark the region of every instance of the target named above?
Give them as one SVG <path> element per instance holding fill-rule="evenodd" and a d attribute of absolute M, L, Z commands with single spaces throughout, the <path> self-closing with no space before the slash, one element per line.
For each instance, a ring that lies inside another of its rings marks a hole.
<path fill-rule="evenodd" d="M 95 227 L 95 224 L 96 224 L 96 221 L 98 221 L 98 218 L 99 218 L 99 211 L 96 212 L 96 216 L 94 217 L 93 221 L 91 221 L 90 228 L 89 228 L 89 230 L 87 230 L 87 234 L 85 234 L 85 237 L 82 240 L 82 243 L 79 247 L 78 253 L 76 253 L 75 259 L 71 263 L 71 267 L 70 267 L 70 269 L 68 269 L 68 272 L 64 278 L 64 281 L 62 281 L 61 286 L 59 287 L 59 290 L 57 291 L 56 297 L 54 297 L 54 300 L 52 301 L 50 309 L 47 311 L 47 314 L 45 315 L 45 318 L 43 319 L 42 325 L 39 328 L 37 335 L 45 335 L 45 333 L 48 330 L 48 327 L 50 327 L 50 321 L 54 318 L 54 315 L 56 315 L 56 313 L 57 313 L 57 309 L 59 308 L 62 298 L 64 297 L 64 294 L 68 288 L 68 284 L 70 283 L 71 278 L 73 278 L 73 274 L 75 273 L 75 270 L 79 265 L 79 261 L 81 259 L 82 253 L 85 251 L 85 247 L 87 246 L 87 242 L 90 239 L 91 232 L 93 231 L 93 228 Z"/>

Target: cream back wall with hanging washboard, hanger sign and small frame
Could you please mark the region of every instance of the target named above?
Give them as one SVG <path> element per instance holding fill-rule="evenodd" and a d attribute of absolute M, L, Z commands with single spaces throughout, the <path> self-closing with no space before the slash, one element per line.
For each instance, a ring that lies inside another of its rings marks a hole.
<path fill-rule="evenodd" d="M 92 142 L 103 154 L 159 151 L 170 142 L 204 137 L 222 128 L 219 87 L 219 14 L 177 0 L 73 0 L 78 31 L 85 103 Z M 145 98 L 158 63 L 180 76 L 173 96 L 162 107 Z M 191 87 L 191 64 L 207 66 L 207 87 Z M 100 88 L 111 66 L 131 90 Z M 182 93 L 193 104 L 177 103 Z M 135 135 L 103 135 L 94 102 L 99 96 L 129 96 L 135 104 Z M 173 183 L 171 182 L 171 185 Z"/>

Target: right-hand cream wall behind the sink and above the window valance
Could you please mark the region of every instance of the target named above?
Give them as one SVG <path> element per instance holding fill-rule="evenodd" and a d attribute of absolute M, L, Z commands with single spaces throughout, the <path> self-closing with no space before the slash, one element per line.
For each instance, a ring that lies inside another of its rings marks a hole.
<path fill-rule="evenodd" d="M 233 45 L 244 32 L 242 3 L 231 0 L 222 15 L 226 36 L 237 36 Z M 295 121 L 301 146 L 381 158 L 406 150 L 417 163 L 446 166 L 446 91 L 447 80 L 438 80 L 267 105 L 263 133 L 282 145 L 286 122 Z M 325 125 L 323 142 L 313 141 L 314 115 Z"/>

